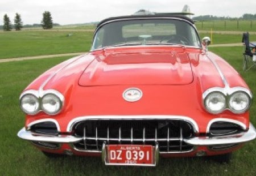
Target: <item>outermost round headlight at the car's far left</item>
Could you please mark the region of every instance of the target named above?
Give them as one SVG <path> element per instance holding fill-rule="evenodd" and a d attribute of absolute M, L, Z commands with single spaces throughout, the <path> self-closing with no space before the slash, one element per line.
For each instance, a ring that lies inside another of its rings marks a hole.
<path fill-rule="evenodd" d="M 34 115 L 39 111 L 39 100 L 32 94 L 26 94 L 20 98 L 20 108 L 24 113 Z"/>

